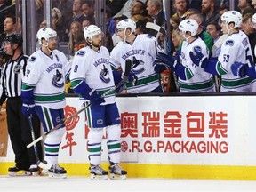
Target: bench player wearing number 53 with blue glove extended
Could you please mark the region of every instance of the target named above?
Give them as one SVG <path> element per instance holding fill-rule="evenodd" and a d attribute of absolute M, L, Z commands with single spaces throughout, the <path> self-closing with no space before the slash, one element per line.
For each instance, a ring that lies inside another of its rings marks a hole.
<path fill-rule="evenodd" d="M 221 16 L 221 29 L 228 38 L 221 45 L 218 60 L 207 59 L 201 52 L 190 52 L 193 62 L 213 75 L 221 76 L 220 92 L 254 92 L 255 80 L 249 76 L 234 76 L 231 65 L 235 62 L 253 64 L 248 37 L 239 30 L 242 24 L 240 12 L 228 11 Z"/>

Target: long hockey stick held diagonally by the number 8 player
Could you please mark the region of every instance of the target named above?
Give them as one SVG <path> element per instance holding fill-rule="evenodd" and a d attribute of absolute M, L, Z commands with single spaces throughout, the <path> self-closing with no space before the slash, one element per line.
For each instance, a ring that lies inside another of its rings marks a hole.
<path fill-rule="evenodd" d="M 104 98 L 105 96 L 107 96 L 110 92 L 115 91 L 117 88 L 119 88 L 122 84 L 127 83 L 128 82 L 128 78 L 131 72 L 131 67 L 132 67 L 132 60 L 126 60 L 125 61 L 125 72 L 124 72 L 124 76 L 123 79 L 116 84 L 115 87 L 109 89 L 107 92 L 104 92 L 104 94 L 102 94 L 101 96 Z M 41 135 L 39 138 L 37 138 L 36 140 L 33 140 L 33 142 L 29 143 L 27 145 L 27 148 L 31 148 L 33 145 L 35 145 L 37 142 L 39 142 L 40 140 L 43 140 L 48 134 L 50 134 L 51 132 L 60 129 L 61 126 L 63 126 L 64 124 L 66 124 L 70 119 L 74 118 L 75 116 L 77 116 L 78 114 L 80 114 L 82 111 L 84 111 L 86 108 L 89 108 L 93 103 L 90 102 L 88 105 L 84 106 L 83 108 L 79 109 L 78 111 L 76 111 L 76 113 L 74 113 L 71 116 L 68 116 L 66 119 L 63 120 L 62 123 L 57 124 L 55 127 L 53 127 L 52 129 L 50 129 L 48 132 L 44 132 L 43 135 Z"/>

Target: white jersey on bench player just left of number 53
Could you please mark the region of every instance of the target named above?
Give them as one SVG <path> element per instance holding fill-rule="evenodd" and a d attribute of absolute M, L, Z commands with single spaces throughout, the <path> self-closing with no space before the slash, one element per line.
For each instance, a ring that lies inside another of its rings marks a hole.
<path fill-rule="evenodd" d="M 214 77 L 196 66 L 190 59 L 189 52 L 199 51 L 209 57 L 209 50 L 201 38 L 196 38 L 188 44 L 183 41 L 181 47 L 181 64 L 186 68 L 187 80 L 180 79 L 180 92 L 216 92 Z"/>

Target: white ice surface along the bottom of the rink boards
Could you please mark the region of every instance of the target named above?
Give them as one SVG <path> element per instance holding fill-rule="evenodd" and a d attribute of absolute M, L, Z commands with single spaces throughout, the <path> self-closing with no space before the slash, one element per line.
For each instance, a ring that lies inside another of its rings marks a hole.
<path fill-rule="evenodd" d="M 89 191 L 256 191 L 256 181 L 142 179 L 91 180 L 89 177 L 50 179 L 46 176 L 0 176 L 0 191 L 89 192 Z"/>

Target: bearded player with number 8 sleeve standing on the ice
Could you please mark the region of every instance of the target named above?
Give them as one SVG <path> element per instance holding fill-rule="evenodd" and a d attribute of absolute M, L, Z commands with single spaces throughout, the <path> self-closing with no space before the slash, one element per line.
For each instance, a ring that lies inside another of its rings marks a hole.
<path fill-rule="evenodd" d="M 88 149 L 91 178 L 106 179 L 108 171 L 100 166 L 101 140 L 103 130 L 108 135 L 109 172 L 111 178 L 115 175 L 124 178 L 127 174 L 120 163 L 121 127 L 120 116 L 116 106 L 115 92 L 101 97 L 104 92 L 115 87 L 112 69 L 109 63 L 109 52 L 101 46 L 102 33 L 100 28 L 90 25 L 84 28 L 84 38 L 88 44 L 76 52 L 72 62 L 70 81 L 74 92 L 81 96 L 84 105 L 92 105 L 85 110 L 90 132 L 88 133 Z M 132 77 L 132 76 L 130 76 Z M 132 82 L 132 78 L 129 78 Z"/>

